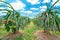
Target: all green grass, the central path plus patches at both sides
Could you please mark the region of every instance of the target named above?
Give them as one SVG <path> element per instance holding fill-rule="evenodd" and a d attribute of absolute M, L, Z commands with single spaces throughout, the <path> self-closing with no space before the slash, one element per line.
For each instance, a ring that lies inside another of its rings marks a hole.
<path fill-rule="evenodd" d="M 35 36 L 34 33 L 37 30 L 43 30 L 43 28 L 36 28 L 35 24 L 33 22 L 30 23 L 29 28 L 25 28 L 23 31 L 23 35 L 17 37 L 15 40 L 34 40 Z M 0 26 L 0 38 L 2 38 L 4 35 L 7 35 L 9 32 L 6 32 L 5 28 Z M 60 35 L 60 32 L 54 32 L 55 35 Z"/>

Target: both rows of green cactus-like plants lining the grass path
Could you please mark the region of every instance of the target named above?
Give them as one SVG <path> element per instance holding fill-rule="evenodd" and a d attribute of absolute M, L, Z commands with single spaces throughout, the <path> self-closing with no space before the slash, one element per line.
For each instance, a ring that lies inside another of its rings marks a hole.
<path fill-rule="evenodd" d="M 0 9 L 0 11 L 3 11 L 2 13 L 6 13 L 5 16 L 0 17 L 0 25 L 4 24 L 5 29 L 7 32 L 12 30 L 12 32 L 15 34 L 19 28 L 22 30 L 27 26 L 31 21 L 34 22 L 34 24 L 38 27 L 41 27 L 44 29 L 45 33 L 49 33 L 49 31 L 59 31 L 60 32 L 60 17 L 58 16 L 59 9 L 53 9 L 54 5 L 58 2 L 57 0 L 52 6 L 47 6 L 47 10 L 38 14 L 36 18 L 30 19 L 29 17 L 23 17 L 20 15 L 19 12 L 15 11 L 14 8 L 5 1 L 3 4 L 0 5 L 0 7 L 7 7 L 10 9 Z"/>

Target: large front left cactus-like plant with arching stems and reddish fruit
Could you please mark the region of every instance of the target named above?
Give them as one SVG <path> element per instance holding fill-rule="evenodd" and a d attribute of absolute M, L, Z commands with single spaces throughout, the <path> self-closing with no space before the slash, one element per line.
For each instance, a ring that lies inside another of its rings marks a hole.
<path fill-rule="evenodd" d="M 19 23 L 20 22 L 20 13 L 16 12 L 9 3 L 5 2 L 5 1 L 0 1 L 0 2 L 5 3 L 6 7 L 12 9 L 12 10 L 9 10 L 9 9 L 0 9 L 0 11 L 7 11 L 6 12 L 6 16 L 3 17 L 3 20 L 6 20 L 6 22 L 5 22 L 6 30 L 8 32 L 10 31 L 10 29 L 12 29 L 12 31 L 18 31 L 19 27 L 20 27 L 20 23 Z M 10 27 L 12 27 L 12 28 L 10 28 Z"/>

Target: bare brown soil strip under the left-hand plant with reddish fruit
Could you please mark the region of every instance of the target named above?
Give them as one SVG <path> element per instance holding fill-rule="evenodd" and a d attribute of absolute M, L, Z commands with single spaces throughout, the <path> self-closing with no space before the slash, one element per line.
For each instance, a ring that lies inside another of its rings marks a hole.
<path fill-rule="evenodd" d="M 10 33 L 2 38 L 2 40 L 15 40 L 17 37 L 23 34 L 22 30 L 19 30 L 19 32 L 16 32 L 15 34 Z"/>

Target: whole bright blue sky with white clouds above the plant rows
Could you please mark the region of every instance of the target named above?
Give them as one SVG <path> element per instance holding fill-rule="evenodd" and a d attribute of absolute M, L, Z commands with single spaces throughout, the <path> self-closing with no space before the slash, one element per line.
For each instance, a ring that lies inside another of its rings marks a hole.
<path fill-rule="evenodd" d="M 46 3 L 49 7 L 57 0 L 3 0 L 10 3 L 13 8 L 20 12 L 22 16 L 28 16 L 30 18 L 35 17 L 38 13 L 46 10 Z M 60 1 L 54 6 L 60 8 Z M 2 14 L 1 14 L 2 15 Z"/>

